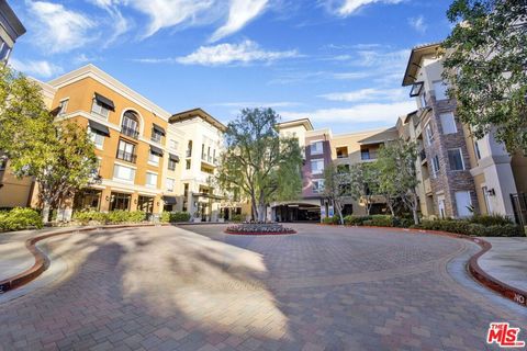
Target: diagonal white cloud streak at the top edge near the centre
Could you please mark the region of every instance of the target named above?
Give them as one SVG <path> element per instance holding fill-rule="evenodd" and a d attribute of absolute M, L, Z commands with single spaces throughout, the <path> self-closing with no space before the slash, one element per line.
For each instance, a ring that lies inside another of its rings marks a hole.
<path fill-rule="evenodd" d="M 214 32 L 211 42 L 217 42 L 243 29 L 265 11 L 267 3 L 268 0 L 231 0 L 227 23 Z"/>

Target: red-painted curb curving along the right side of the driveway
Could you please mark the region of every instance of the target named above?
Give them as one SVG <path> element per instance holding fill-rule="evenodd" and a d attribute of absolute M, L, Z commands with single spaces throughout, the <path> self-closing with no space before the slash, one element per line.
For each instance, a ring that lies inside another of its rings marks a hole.
<path fill-rule="evenodd" d="M 319 224 L 322 226 L 335 226 L 328 224 Z M 339 227 L 348 227 L 348 228 L 374 228 L 374 229 L 384 229 L 384 230 L 399 230 L 399 231 L 406 231 L 406 233 L 418 233 L 418 234 L 431 234 L 431 235 L 439 235 L 444 237 L 450 237 L 456 239 L 464 239 L 469 240 L 473 244 L 480 246 L 481 250 L 472 256 L 467 263 L 467 268 L 469 273 L 472 275 L 474 280 L 476 280 L 480 284 L 486 286 L 487 288 L 498 293 L 503 297 L 520 305 L 527 307 L 527 292 L 511 286 L 507 283 L 500 281 L 498 279 L 490 275 L 478 263 L 480 257 L 485 254 L 487 251 L 492 249 L 492 245 L 483 239 L 470 237 L 462 234 L 455 234 L 448 231 L 439 231 L 439 230 L 423 230 L 423 229 L 411 229 L 411 228 L 395 228 L 395 227 L 374 227 L 374 226 L 339 226 Z"/>

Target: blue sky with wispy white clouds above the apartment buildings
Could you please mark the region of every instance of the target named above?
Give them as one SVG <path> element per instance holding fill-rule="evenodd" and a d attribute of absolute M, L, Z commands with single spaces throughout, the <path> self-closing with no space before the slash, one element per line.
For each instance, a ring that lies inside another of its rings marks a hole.
<path fill-rule="evenodd" d="M 92 63 L 170 112 L 228 122 L 244 106 L 334 133 L 391 126 L 415 103 L 410 49 L 444 39 L 449 0 L 9 1 L 11 57 L 49 80 Z"/>

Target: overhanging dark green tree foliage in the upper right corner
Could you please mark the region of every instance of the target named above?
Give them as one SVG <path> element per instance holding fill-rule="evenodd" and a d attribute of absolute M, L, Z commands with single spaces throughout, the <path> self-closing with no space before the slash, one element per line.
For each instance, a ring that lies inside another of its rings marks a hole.
<path fill-rule="evenodd" d="M 456 27 L 442 44 L 444 78 L 460 121 L 478 138 L 495 131 L 509 152 L 527 152 L 525 0 L 455 0 L 447 15 Z"/>

